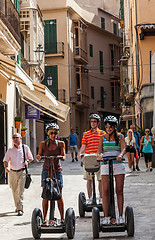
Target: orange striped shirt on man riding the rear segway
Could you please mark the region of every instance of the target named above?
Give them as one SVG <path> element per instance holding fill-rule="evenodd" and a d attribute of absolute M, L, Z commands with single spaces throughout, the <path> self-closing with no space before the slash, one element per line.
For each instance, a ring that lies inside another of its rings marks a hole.
<path fill-rule="evenodd" d="M 96 131 L 90 129 L 88 132 L 85 132 L 82 138 L 82 145 L 86 145 L 85 153 L 97 153 L 99 138 L 104 135 L 105 132 L 97 128 Z"/>

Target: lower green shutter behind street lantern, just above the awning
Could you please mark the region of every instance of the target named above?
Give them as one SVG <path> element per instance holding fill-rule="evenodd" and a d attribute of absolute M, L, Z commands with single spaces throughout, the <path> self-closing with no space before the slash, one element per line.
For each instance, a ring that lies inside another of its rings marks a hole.
<path fill-rule="evenodd" d="M 47 78 L 51 76 L 53 79 L 52 86 L 47 85 Z M 58 99 L 58 68 L 57 66 L 45 66 L 45 79 L 42 81 L 49 90 L 54 94 L 56 99 Z"/>

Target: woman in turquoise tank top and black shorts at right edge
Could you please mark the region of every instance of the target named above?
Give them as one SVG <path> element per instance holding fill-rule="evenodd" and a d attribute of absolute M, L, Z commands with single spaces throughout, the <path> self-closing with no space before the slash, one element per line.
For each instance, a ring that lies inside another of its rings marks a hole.
<path fill-rule="evenodd" d="M 142 148 L 142 152 L 144 153 L 146 172 L 152 172 L 152 154 L 153 154 L 153 137 L 150 136 L 150 130 L 148 128 L 145 129 L 145 136 L 142 136 L 140 142 Z"/>

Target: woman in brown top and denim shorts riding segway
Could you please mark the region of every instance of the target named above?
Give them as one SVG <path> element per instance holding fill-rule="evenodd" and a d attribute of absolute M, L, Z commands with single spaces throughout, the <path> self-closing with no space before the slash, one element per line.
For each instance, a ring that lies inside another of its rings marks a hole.
<path fill-rule="evenodd" d="M 38 155 L 36 156 L 37 161 L 41 160 L 41 156 L 44 154 L 45 156 L 56 156 L 56 159 L 50 158 L 51 161 L 54 161 L 54 167 L 56 171 L 56 178 L 60 180 L 60 192 L 61 192 L 61 199 L 57 201 L 58 209 L 60 212 L 61 222 L 64 224 L 64 202 L 62 198 L 62 188 L 63 188 L 63 179 L 62 179 L 62 168 L 60 159 L 62 161 L 65 160 L 65 144 L 63 141 L 56 140 L 57 135 L 59 132 L 59 126 L 56 123 L 50 123 L 46 126 L 46 134 L 48 135 L 48 139 L 42 141 L 39 144 L 39 151 Z M 41 186 L 44 187 L 44 180 L 48 177 L 49 168 L 50 168 L 49 160 L 45 158 L 42 170 L 42 180 Z M 44 222 L 46 224 L 47 221 L 47 211 L 48 211 L 48 200 L 43 199 L 42 201 L 43 207 L 43 215 L 44 215 Z"/>

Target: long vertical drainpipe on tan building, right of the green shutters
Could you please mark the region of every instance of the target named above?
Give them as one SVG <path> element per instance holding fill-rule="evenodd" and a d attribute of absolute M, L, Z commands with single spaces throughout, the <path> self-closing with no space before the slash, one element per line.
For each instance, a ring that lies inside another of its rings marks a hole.
<path fill-rule="evenodd" d="M 67 11 L 67 27 L 68 27 L 68 60 L 69 60 L 69 105 L 70 105 L 70 129 L 72 128 L 72 96 L 71 96 L 71 54 L 70 54 L 70 16 Z"/>

